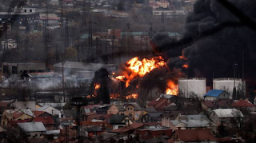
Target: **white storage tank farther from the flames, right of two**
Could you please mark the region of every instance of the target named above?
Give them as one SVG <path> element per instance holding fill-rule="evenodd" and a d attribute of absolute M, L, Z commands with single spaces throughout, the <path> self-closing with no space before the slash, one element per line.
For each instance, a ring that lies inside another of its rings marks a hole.
<path fill-rule="evenodd" d="M 214 78 L 213 80 L 213 89 L 222 89 L 226 90 L 227 93 L 230 93 L 232 97 L 234 86 L 236 89 L 242 89 L 242 79 L 241 78 Z M 244 87 L 246 83 L 244 81 Z"/>

